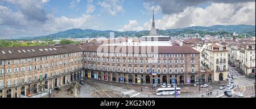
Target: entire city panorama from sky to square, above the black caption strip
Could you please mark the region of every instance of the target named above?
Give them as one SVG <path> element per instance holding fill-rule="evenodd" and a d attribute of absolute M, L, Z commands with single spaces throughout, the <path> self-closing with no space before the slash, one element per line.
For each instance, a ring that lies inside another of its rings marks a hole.
<path fill-rule="evenodd" d="M 255 98 L 254 0 L 60 4 L 0 1 L 0 98 Z"/>

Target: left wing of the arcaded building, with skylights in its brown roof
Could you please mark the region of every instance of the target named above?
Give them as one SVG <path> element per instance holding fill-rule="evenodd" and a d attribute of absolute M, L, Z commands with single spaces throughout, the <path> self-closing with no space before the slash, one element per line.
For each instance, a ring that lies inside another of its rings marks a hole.
<path fill-rule="evenodd" d="M 75 45 L 0 47 L 0 97 L 32 97 L 82 77 Z"/>

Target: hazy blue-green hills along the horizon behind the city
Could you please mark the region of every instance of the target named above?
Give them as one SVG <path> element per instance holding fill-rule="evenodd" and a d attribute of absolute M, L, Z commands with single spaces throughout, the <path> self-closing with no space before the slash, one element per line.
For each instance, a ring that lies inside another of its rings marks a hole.
<path fill-rule="evenodd" d="M 63 32 L 58 32 L 55 34 L 49 34 L 47 36 L 36 36 L 36 37 L 25 37 L 19 38 L 19 40 L 40 40 L 49 39 L 55 40 L 60 38 L 97 38 L 97 37 L 109 37 L 110 32 L 115 32 L 115 37 L 141 37 L 146 36 L 149 30 L 142 30 L 139 32 L 126 31 L 118 32 L 114 30 L 93 30 L 93 29 L 69 29 Z M 210 35 L 226 35 L 233 34 L 236 32 L 238 34 L 243 34 L 247 36 L 255 36 L 255 25 L 213 25 L 211 27 L 186 27 L 179 29 L 158 29 L 158 33 L 164 36 L 182 36 L 183 34 L 195 34 L 200 35 L 210 34 Z"/>

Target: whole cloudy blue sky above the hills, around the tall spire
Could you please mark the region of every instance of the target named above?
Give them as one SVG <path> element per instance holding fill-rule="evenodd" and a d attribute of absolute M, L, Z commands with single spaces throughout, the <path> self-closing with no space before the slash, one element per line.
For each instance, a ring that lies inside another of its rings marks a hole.
<path fill-rule="evenodd" d="M 255 0 L 0 0 L 0 39 L 72 28 L 149 30 L 255 25 Z"/>

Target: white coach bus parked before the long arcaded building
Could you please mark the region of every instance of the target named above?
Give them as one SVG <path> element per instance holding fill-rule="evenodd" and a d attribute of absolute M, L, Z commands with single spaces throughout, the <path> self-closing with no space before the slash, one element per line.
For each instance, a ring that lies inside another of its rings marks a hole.
<path fill-rule="evenodd" d="M 180 94 L 180 88 L 176 88 L 177 95 Z M 156 90 L 156 95 L 175 95 L 175 88 L 159 88 Z"/>

